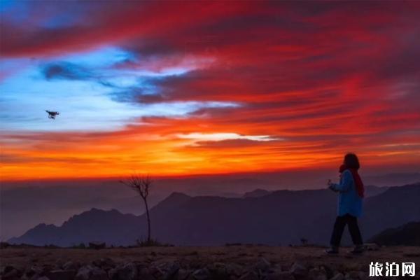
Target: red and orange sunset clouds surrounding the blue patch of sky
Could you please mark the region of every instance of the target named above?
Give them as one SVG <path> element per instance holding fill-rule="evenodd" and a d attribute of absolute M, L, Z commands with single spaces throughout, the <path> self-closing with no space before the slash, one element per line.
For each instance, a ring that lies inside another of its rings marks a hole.
<path fill-rule="evenodd" d="M 55 5 L 54 13 L 71 13 L 65 9 L 69 3 Z M 34 25 L 2 17 L 1 37 L 6 39 L 0 43 L 1 55 L 51 56 L 117 45 L 134 59 L 115 69 L 194 66 L 182 75 L 147 80 L 157 94 L 138 94 L 137 102 L 240 106 L 202 109 L 185 118 L 144 118 L 147 125 L 120 132 L 59 134 L 63 146 L 50 145 L 57 135 L 9 135 L 36 144 L 22 151 L 8 142 L 10 162 L 27 157 L 28 168 L 34 168 L 34 160 L 56 160 L 67 176 L 84 164 L 94 167 L 91 175 L 118 174 L 133 162 L 171 174 L 317 167 L 319 162 L 335 164 L 346 151 L 360 152 L 370 165 L 420 163 L 418 2 L 73 5 L 85 13 L 78 23 L 64 27 L 38 24 L 50 16 L 39 7 L 31 7 L 34 13 L 27 20 Z M 191 145 L 173 137 L 195 132 L 269 135 L 284 141 Z M 69 160 L 58 160 L 74 155 L 79 160 L 69 169 Z M 112 162 L 118 162 L 113 170 Z M 11 164 L 9 168 L 6 174 L 15 176 Z M 57 172 L 55 168 L 45 166 L 41 173 Z"/>

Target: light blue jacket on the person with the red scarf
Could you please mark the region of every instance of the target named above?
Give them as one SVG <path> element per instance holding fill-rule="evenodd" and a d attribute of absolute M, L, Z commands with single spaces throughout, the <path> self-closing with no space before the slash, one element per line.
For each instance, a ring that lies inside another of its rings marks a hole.
<path fill-rule="evenodd" d="M 349 169 L 344 170 L 339 184 L 333 183 L 330 186 L 330 189 L 339 193 L 337 208 L 338 216 L 350 214 L 351 216 L 360 217 L 362 215 L 363 199 L 359 197 L 357 193 L 353 175 Z"/>

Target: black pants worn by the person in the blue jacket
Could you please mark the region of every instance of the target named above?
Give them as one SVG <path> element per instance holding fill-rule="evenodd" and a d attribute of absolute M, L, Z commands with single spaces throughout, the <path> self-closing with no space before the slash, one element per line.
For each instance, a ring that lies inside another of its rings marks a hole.
<path fill-rule="evenodd" d="M 362 245 L 362 235 L 360 235 L 360 230 L 357 224 L 357 218 L 351 216 L 350 214 L 346 214 L 344 216 L 337 216 L 337 219 L 334 223 L 334 230 L 332 230 L 330 244 L 332 246 L 339 246 L 346 225 L 349 225 L 349 232 L 351 235 L 351 240 L 353 240 L 353 244 Z"/>

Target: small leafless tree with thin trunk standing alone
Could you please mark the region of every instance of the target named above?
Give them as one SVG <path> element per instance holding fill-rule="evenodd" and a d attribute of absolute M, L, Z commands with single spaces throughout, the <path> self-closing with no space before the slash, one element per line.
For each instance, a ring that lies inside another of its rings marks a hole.
<path fill-rule="evenodd" d="M 124 180 L 120 180 L 120 183 L 123 183 L 125 186 L 128 186 L 139 193 L 140 197 L 144 201 L 144 205 L 146 206 L 146 216 L 147 216 L 147 241 L 148 243 L 151 241 L 151 217 L 148 211 L 148 203 L 147 197 L 151 190 L 153 181 L 151 176 L 141 176 L 139 174 L 132 174 L 131 176 L 127 177 Z"/>

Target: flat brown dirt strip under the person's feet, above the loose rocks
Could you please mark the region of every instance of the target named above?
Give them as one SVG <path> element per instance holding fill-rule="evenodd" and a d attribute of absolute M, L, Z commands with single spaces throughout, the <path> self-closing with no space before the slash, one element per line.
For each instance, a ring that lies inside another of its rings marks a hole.
<path fill-rule="evenodd" d="M 326 255 L 320 247 L 299 246 L 221 246 L 221 247 L 145 247 L 107 248 L 102 250 L 73 248 L 3 248 L 0 250 L 0 267 L 30 267 L 31 265 L 55 265 L 69 260 L 90 263 L 100 258 L 116 262 L 188 262 L 200 267 L 214 262 L 253 265 L 265 258 L 272 264 L 290 267 L 299 261 L 310 265 L 345 267 L 346 270 L 369 270 L 370 262 L 415 262 L 420 269 L 420 247 L 381 247 L 378 251 L 365 251 L 363 255 L 351 255 L 342 248 L 339 255 Z"/>

